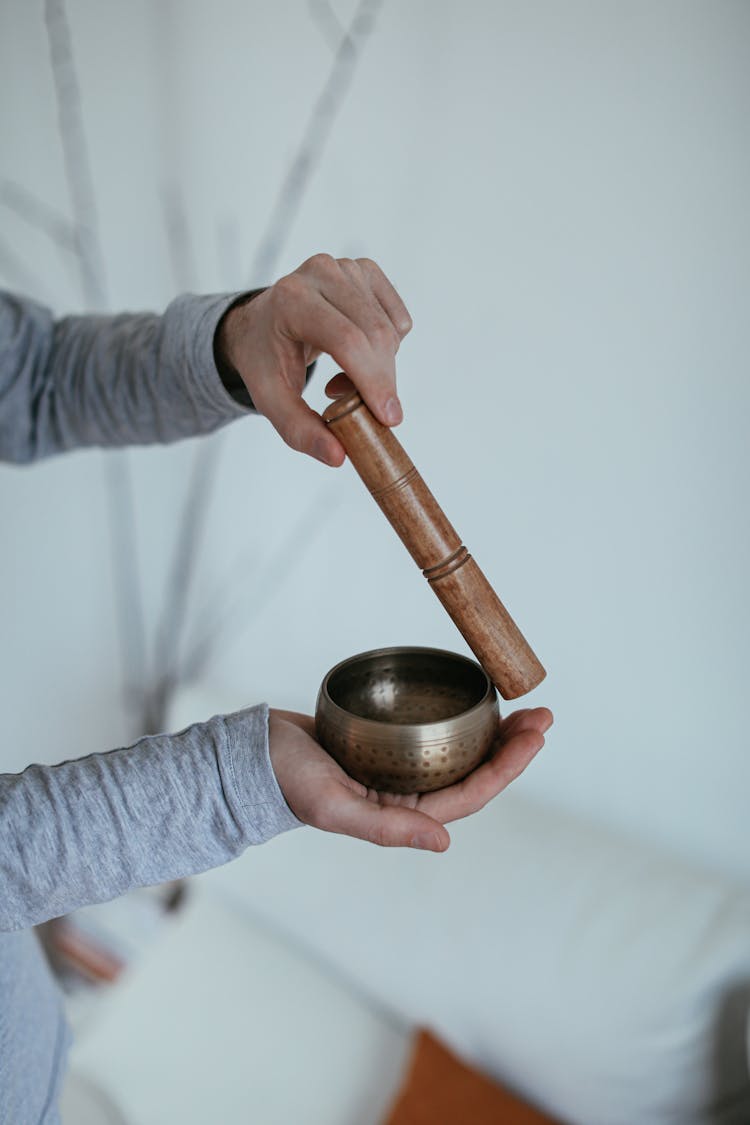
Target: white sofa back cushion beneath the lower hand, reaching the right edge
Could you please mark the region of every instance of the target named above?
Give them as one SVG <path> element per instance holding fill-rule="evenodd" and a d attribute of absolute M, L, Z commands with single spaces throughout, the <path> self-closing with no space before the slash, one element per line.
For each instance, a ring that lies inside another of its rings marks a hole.
<path fill-rule="evenodd" d="M 513 793 L 452 835 L 302 829 L 201 878 L 566 1120 L 750 1122 L 747 890 Z"/>

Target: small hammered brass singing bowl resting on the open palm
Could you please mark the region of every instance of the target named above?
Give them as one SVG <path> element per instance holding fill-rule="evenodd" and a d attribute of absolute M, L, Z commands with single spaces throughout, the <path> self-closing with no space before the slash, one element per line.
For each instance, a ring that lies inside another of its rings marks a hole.
<path fill-rule="evenodd" d="M 317 738 L 346 773 L 387 793 L 461 781 L 497 737 L 497 693 L 473 660 L 437 648 L 379 648 L 327 674 Z"/>

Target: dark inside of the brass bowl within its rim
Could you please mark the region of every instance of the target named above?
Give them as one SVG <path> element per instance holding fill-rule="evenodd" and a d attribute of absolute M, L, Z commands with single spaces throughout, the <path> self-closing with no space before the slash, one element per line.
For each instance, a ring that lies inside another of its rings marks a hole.
<path fill-rule="evenodd" d="M 433 649 L 390 649 L 352 657 L 328 676 L 331 700 L 362 719 L 441 722 L 476 706 L 489 683 L 471 660 Z"/>

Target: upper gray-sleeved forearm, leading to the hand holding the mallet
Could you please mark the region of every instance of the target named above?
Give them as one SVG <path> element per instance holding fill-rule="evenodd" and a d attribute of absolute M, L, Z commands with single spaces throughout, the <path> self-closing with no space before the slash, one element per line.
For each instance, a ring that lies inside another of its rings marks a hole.
<path fill-rule="evenodd" d="M 186 296 L 163 316 L 55 322 L 0 294 L 0 458 L 175 441 L 246 414 L 214 358 L 216 327 L 234 300 Z"/>

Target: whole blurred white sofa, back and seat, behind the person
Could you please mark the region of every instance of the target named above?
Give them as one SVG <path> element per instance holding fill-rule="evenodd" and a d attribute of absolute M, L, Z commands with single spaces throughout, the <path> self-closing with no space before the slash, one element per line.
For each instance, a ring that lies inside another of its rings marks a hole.
<path fill-rule="evenodd" d="M 563 1122 L 750 1122 L 750 890 L 513 791 L 452 835 L 200 876 L 74 1072 L 129 1125 L 376 1125 L 428 1025 Z"/>

